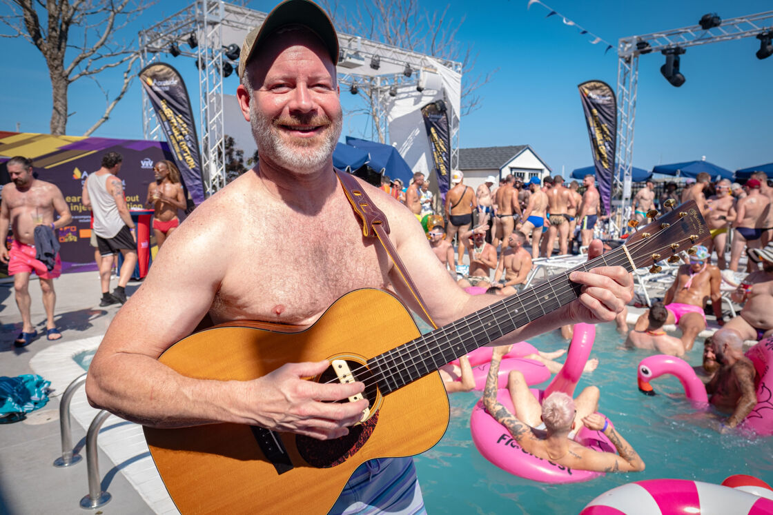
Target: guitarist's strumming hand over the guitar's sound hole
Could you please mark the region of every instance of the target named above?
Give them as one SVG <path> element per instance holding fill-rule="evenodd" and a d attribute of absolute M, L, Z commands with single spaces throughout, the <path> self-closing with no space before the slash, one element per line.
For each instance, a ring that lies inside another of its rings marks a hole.
<path fill-rule="evenodd" d="M 267 429 L 293 432 L 315 439 L 349 434 L 368 407 L 368 401 L 335 402 L 362 393 L 362 382 L 320 384 L 304 378 L 322 374 L 329 361 L 288 363 L 271 374 L 247 383 L 247 401 L 254 412 L 244 414 Z"/>

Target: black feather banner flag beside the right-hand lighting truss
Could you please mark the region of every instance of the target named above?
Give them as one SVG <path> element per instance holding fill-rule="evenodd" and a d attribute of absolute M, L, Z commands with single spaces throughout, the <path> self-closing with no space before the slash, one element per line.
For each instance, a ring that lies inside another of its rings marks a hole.
<path fill-rule="evenodd" d="M 587 133 L 591 137 L 593 163 L 601 203 L 607 213 L 611 210 L 612 174 L 615 171 L 615 142 L 617 140 L 617 101 L 615 92 L 601 80 L 589 80 L 577 88 L 585 111 Z"/>

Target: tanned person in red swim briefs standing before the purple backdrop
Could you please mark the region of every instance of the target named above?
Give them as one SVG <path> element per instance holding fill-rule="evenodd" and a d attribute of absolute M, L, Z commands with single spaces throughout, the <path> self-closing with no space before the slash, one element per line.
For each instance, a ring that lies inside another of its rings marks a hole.
<path fill-rule="evenodd" d="M 179 209 L 186 208 L 186 195 L 180 182 L 180 171 L 172 161 L 158 161 L 153 167 L 155 182 L 148 185 L 148 200 L 145 205 L 152 206 L 153 235 L 158 249 L 180 225 L 177 218 Z"/>

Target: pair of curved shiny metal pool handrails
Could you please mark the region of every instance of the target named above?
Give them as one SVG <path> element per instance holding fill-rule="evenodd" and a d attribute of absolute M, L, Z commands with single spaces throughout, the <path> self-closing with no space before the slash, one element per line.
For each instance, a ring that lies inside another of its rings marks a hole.
<path fill-rule="evenodd" d="M 53 462 L 55 467 L 68 467 L 75 465 L 82 459 L 80 454 L 73 452 L 73 433 L 70 427 L 70 401 L 73 400 L 75 391 L 86 382 L 86 373 L 84 372 L 67 386 L 62 394 L 59 405 L 60 433 L 62 437 L 62 456 L 56 458 Z M 89 480 L 89 493 L 80 500 L 80 507 L 87 510 L 95 510 L 103 507 L 110 502 L 110 493 L 102 490 L 102 484 L 99 476 L 99 456 L 97 455 L 97 436 L 99 430 L 110 416 L 110 412 L 104 409 L 97 413 L 94 420 L 89 425 L 86 433 L 86 469 Z"/>

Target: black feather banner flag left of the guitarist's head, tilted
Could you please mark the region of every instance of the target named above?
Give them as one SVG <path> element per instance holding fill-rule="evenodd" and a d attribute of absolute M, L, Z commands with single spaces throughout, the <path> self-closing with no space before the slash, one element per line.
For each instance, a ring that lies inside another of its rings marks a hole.
<path fill-rule="evenodd" d="M 139 73 L 145 93 L 153 103 L 169 147 L 175 154 L 175 164 L 182 175 L 183 185 L 196 205 L 204 202 L 204 183 L 199 138 L 193 120 L 191 101 L 186 84 L 176 69 L 166 63 L 153 63 Z"/>

